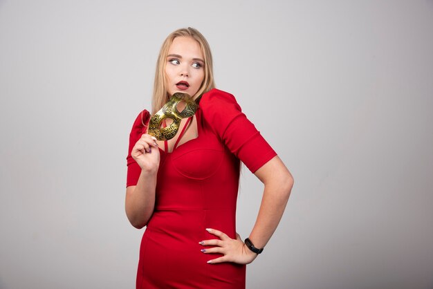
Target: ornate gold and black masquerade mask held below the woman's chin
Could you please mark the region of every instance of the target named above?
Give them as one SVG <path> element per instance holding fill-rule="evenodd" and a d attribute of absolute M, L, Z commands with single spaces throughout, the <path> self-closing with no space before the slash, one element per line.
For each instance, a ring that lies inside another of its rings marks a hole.
<path fill-rule="evenodd" d="M 185 104 L 185 108 L 182 111 L 178 111 L 178 104 L 181 102 Z M 181 120 L 194 115 L 198 107 L 190 95 L 186 93 L 174 93 L 163 108 L 150 118 L 149 135 L 154 136 L 157 140 L 174 138 L 179 130 Z M 171 119 L 172 123 L 167 127 L 161 127 L 166 118 Z"/>

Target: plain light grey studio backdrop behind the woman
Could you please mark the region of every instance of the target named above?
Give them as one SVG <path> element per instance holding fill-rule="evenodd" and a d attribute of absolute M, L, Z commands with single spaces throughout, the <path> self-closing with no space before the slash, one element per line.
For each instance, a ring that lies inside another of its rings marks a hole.
<path fill-rule="evenodd" d="M 129 130 L 185 26 L 295 176 L 247 287 L 433 288 L 431 0 L 0 1 L 0 288 L 135 286 Z"/>

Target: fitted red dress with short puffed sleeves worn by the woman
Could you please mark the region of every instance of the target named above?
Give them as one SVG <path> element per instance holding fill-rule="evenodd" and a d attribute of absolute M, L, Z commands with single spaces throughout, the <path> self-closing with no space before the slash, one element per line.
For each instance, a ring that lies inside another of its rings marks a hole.
<path fill-rule="evenodd" d="M 140 167 L 131 149 L 145 133 L 149 113 L 133 124 L 127 186 Z M 140 246 L 137 288 L 245 288 L 246 266 L 208 264 L 199 241 L 215 239 L 205 228 L 236 238 L 239 160 L 255 172 L 276 153 L 241 112 L 233 95 L 212 89 L 196 112 L 198 138 L 167 153 L 160 149 L 156 204 Z"/>

